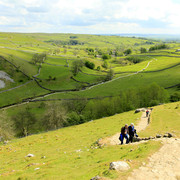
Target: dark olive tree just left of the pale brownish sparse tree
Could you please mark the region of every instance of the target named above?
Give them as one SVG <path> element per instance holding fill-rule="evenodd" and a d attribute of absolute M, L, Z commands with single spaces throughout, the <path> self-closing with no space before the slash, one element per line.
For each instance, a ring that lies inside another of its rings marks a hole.
<path fill-rule="evenodd" d="M 32 127 L 36 122 L 36 117 L 30 112 L 29 108 L 19 112 L 12 117 L 15 130 L 18 136 L 27 136 L 31 133 Z"/>

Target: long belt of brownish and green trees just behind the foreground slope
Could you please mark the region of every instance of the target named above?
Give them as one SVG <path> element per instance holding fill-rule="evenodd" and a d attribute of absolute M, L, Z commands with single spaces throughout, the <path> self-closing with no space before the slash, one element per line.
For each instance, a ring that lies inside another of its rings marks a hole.
<path fill-rule="evenodd" d="M 110 72 L 112 74 L 112 72 Z M 167 102 L 169 96 L 166 90 L 157 84 L 147 87 L 130 89 L 120 92 L 118 96 L 87 100 L 86 98 L 60 101 L 56 103 L 40 103 L 44 115 L 39 118 L 29 107 L 12 117 L 12 126 L 19 137 L 30 134 L 55 130 L 66 126 L 82 124 L 92 119 L 98 119 Z"/>

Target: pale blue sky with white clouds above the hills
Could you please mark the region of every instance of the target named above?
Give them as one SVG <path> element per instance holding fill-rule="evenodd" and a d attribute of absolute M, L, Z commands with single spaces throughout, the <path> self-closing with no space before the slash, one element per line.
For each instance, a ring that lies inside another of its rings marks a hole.
<path fill-rule="evenodd" d="M 180 34 L 180 0 L 0 0 L 0 31 Z"/>

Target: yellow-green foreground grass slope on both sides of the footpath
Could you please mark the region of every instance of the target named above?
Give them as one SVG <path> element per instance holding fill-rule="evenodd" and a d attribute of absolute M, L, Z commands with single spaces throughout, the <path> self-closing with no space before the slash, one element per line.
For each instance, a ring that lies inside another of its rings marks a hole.
<path fill-rule="evenodd" d="M 147 161 L 159 147 L 159 142 L 149 141 L 139 145 L 97 147 L 99 138 L 114 135 L 125 123 L 138 123 L 140 114 L 134 111 L 64 128 L 48 133 L 14 139 L 0 146 L 0 179 L 90 179 L 99 174 L 114 179 L 124 173 L 109 171 L 109 163 L 128 162 L 133 168 Z M 152 123 L 141 133 L 155 135 L 166 131 L 180 132 L 180 104 L 171 103 L 154 107 Z M 25 157 L 32 153 L 35 157 Z M 126 174 L 127 175 L 127 174 Z"/>

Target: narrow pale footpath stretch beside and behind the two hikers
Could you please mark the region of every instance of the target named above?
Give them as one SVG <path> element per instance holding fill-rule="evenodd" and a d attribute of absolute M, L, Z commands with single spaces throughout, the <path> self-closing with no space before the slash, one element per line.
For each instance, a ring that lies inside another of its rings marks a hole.
<path fill-rule="evenodd" d="M 138 125 L 135 126 L 137 133 L 142 131 L 142 130 L 145 130 L 146 127 L 148 126 L 148 118 L 146 117 L 145 109 L 141 109 L 141 110 L 142 110 L 141 119 L 140 119 Z M 151 113 L 151 111 L 150 111 L 150 113 Z M 119 145 L 120 144 L 119 135 L 120 135 L 120 132 L 118 132 L 114 136 L 102 139 L 99 143 L 100 144 L 108 144 L 108 145 Z"/>

